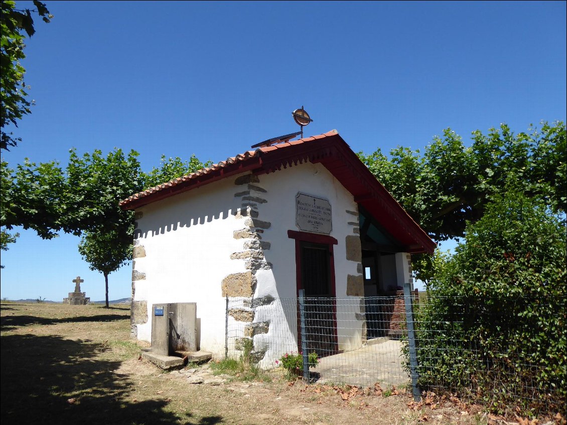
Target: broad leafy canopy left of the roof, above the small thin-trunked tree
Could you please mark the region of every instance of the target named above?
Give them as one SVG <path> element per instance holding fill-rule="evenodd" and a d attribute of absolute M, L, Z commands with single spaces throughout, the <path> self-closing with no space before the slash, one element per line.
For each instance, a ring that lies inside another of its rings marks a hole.
<path fill-rule="evenodd" d="M 143 188 L 137 156 L 116 149 L 107 156 L 95 150 L 79 157 L 70 150 L 65 169 L 58 162 L 26 160 L 14 170 L 2 161 L 0 224 L 8 230 L 35 230 L 44 239 L 59 231 L 77 236 L 94 230 L 125 232 L 132 213 L 122 211 L 118 202 Z"/>

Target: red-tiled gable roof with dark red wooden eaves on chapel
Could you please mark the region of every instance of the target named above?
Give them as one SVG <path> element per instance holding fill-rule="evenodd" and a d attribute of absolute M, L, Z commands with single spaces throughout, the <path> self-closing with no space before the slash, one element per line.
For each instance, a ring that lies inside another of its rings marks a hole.
<path fill-rule="evenodd" d="M 354 201 L 403 243 L 408 252 L 433 252 L 435 243 L 376 180 L 336 130 L 246 151 L 136 193 L 121 201 L 120 206 L 133 210 L 229 176 L 244 172 L 261 175 L 303 162 L 323 164 L 353 194 Z"/>

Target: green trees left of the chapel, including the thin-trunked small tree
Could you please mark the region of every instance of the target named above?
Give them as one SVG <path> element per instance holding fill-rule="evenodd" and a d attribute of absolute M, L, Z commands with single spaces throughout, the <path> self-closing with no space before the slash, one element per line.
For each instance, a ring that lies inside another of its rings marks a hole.
<path fill-rule="evenodd" d="M 26 159 L 15 169 L 2 161 L 1 226 L 32 229 L 44 239 L 60 231 L 82 235 L 79 253 L 91 270 L 103 273 L 108 305 L 108 274 L 132 258 L 133 212 L 122 210 L 119 202 L 210 165 L 195 155 L 187 161 L 162 156 L 159 168 L 144 173 L 137 156 L 136 151 L 125 156 L 120 149 L 106 156 L 100 150 L 78 156 L 72 149 L 65 169 L 56 161 L 36 164 Z"/>

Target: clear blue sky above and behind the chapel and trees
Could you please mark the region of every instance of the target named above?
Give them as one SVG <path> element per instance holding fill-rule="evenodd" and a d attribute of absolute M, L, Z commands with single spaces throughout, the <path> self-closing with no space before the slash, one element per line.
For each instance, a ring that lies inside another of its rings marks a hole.
<path fill-rule="evenodd" d="M 45 0 L 27 41 L 36 100 L 2 156 L 11 165 L 66 164 L 114 147 L 219 160 L 298 131 L 337 129 L 354 151 L 423 148 L 450 127 L 566 119 L 566 2 L 90 2 Z M 20 7 L 31 2 L 16 2 Z M 2 252 L 2 298 L 60 301 L 77 275 L 91 300 L 78 237 L 21 232 Z M 130 296 L 131 267 L 109 275 L 110 299 Z"/>

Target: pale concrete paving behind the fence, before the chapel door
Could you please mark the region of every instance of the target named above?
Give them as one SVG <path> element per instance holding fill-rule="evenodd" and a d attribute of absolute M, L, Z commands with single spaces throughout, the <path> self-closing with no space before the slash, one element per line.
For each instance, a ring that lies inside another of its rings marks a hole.
<path fill-rule="evenodd" d="M 317 383 L 350 384 L 382 388 L 409 382 L 408 373 L 402 368 L 400 341 L 377 338 L 361 349 L 342 352 L 320 359 L 319 366 L 311 372 L 319 373 Z"/>

